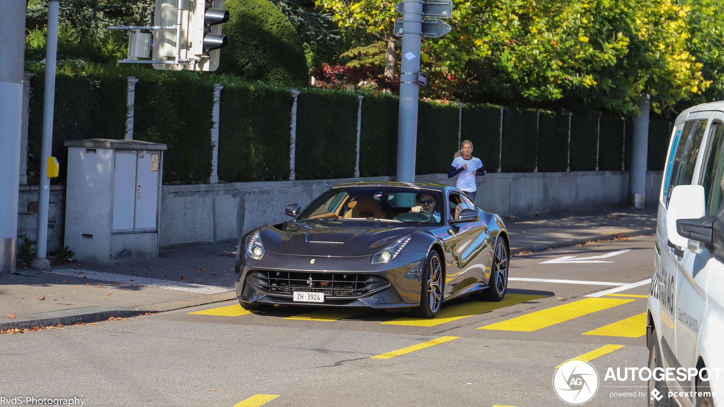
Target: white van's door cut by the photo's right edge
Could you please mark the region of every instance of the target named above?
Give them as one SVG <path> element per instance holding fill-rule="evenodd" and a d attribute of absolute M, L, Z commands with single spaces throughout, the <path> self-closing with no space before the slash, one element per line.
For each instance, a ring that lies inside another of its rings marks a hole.
<path fill-rule="evenodd" d="M 697 113 L 712 116 L 713 112 Z M 721 115 L 720 116 L 724 116 Z M 696 116 L 695 116 L 696 117 Z M 710 120 L 707 137 L 703 140 L 702 159 L 696 178 L 704 187 L 705 215 L 719 215 L 724 196 L 724 117 Z M 686 369 L 696 367 L 698 359 L 697 343 L 700 328 L 707 312 L 707 283 L 712 269 L 718 269 L 718 260 L 712 257 L 708 249 L 696 254 L 689 248 L 683 249 L 683 257 L 677 257 L 678 278 L 676 280 L 676 359 Z M 678 366 L 675 366 L 678 367 Z M 684 392 L 694 390 L 694 380 L 679 382 Z M 696 403 L 694 397 L 680 400 L 683 404 Z"/>

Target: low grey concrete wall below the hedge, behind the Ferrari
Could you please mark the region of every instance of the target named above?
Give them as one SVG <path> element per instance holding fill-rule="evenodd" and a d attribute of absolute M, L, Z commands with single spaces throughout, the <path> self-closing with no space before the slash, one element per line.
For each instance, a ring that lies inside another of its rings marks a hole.
<path fill-rule="evenodd" d="M 393 177 L 316 181 L 165 185 L 161 189 L 161 249 L 236 242 L 248 231 L 289 219 L 284 208 L 303 207 L 334 185 L 392 181 Z M 416 177 L 454 185 L 446 174 Z M 647 206 L 657 205 L 662 171 L 647 173 Z M 525 215 L 626 202 L 628 172 L 488 173 L 478 177 L 476 202 L 500 215 Z"/>

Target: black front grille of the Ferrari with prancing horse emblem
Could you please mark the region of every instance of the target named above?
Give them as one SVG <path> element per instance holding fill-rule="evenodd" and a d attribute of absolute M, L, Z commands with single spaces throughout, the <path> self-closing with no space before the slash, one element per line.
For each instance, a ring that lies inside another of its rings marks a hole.
<path fill-rule="evenodd" d="M 292 295 L 292 291 L 324 293 L 325 296 L 361 296 L 389 286 L 379 275 L 352 273 L 299 273 L 253 270 L 248 279 L 272 294 Z"/>

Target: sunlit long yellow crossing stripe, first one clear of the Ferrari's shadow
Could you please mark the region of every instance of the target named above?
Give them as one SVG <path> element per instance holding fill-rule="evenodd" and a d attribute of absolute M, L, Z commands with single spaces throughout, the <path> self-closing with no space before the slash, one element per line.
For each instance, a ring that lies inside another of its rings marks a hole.
<path fill-rule="evenodd" d="M 479 327 L 478 329 L 533 332 L 534 330 L 550 327 L 560 322 L 573 320 L 573 318 L 601 311 L 602 309 L 616 307 L 617 305 L 626 304 L 631 301 L 636 300 L 589 297 L 557 307 L 531 312 L 530 314 L 521 315 L 510 320 Z"/>

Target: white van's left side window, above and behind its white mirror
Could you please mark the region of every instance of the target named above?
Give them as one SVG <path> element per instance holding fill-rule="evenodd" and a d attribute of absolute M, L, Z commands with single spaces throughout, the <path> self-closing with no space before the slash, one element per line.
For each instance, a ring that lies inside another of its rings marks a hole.
<path fill-rule="evenodd" d="M 708 119 L 686 121 L 683 129 L 676 131 L 674 145 L 666 168 L 664 199 L 669 207 L 671 190 L 677 185 L 691 185 L 696 158 L 702 145 Z"/>

